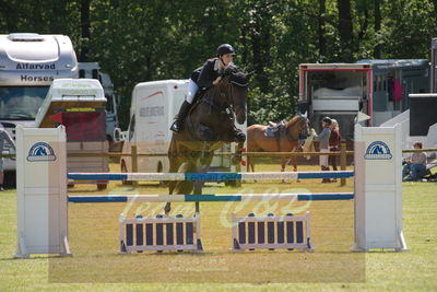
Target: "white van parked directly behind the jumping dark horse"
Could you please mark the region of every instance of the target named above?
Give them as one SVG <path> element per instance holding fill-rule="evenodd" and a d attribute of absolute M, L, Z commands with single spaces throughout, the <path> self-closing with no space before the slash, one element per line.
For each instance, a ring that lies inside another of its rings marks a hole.
<path fill-rule="evenodd" d="M 169 130 L 188 92 L 188 80 L 162 80 L 142 82 L 134 86 L 128 131 L 123 133 L 123 153 L 167 153 L 173 132 Z M 246 133 L 246 124 L 236 125 Z M 233 151 L 235 143 L 225 144 L 222 151 Z M 122 156 L 121 172 L 132 172 L 132 160 Z M 168 172 L 167 156 L 139 156 L 138 172 Z M 235 171 L 228 156 L 215 156 L 211 171 Z"/>

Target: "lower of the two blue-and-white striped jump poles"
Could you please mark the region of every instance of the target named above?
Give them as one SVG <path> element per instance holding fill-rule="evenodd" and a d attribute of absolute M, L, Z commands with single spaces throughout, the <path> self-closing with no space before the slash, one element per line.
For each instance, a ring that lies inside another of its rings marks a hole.
<path fill-rule="evenodd" d="M 352 200 L 353 192 L 277 194 L 277 195 L 108 195 L 69 196 L 69 202 L 225 202 L 225 201 L 326 201 Z"/>

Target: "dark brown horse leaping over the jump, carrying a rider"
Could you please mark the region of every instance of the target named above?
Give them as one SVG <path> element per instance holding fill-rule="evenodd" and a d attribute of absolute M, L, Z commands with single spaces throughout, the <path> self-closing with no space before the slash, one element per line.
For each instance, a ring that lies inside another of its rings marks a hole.
<path fill-rule="evenodd" d="M 248 78 L 235 67 L 226 68 L 220 83 L 192 106 L 182 130 L 172 137 L 168 149 L 170 173 L 208 172 L 214 151 L 223 143 L 238 142 L 238 149 L 243 149 L 246 136 L 236 132 L 234 116 L 238 124 L 246 121 Z M 202 185 L 203 182 L 170 182 L 169 195 L 193 190 L 201 194 Z M 164 210 L 169 213 L 169 202 Z M 199 212 L 198 202 L 196 212 Z"/>

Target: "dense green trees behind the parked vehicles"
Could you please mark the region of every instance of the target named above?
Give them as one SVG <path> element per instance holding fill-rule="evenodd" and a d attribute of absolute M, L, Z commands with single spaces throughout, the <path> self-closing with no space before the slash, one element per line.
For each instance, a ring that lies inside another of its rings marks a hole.
<path fill-rule="evenodd" d="M 98 61 L 129 121 L 139 82 L 186 79 L 220 44 L 255 71 L 249 124 L 295 114 L 299 63 L 429 59 L 437 0 L 0 0 L 1 34 L 69 35 Z"/>

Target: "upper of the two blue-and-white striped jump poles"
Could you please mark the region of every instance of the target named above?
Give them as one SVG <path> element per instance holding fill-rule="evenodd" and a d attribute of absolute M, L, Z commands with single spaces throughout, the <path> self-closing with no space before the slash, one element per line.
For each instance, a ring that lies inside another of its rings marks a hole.
<path fill-rule="evenodd" d="M 350 178 L 354 172 L 267 172 L 267 173 L 69 173 L 74 180 L 143 180 L 143 182 L 224 182 L 241 179 L 308 179 L 308 178 Z"/>

